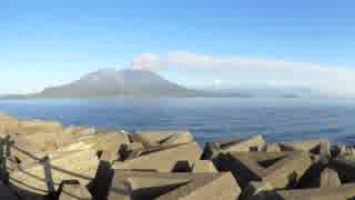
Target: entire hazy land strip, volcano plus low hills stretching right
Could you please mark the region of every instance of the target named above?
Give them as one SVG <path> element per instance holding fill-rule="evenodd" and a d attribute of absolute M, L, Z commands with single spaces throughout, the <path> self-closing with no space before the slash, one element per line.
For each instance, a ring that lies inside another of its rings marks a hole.
<path fill-rule="evenodd" d="M 204 89 L 182 87 L 148 70 L 99 70 L 82 78 L 57 87 L 44 88 L 39 93 L 9 94 L 0 99 L 32 98 L 112 98 L 112 97 L 202 97 L 202 98 L 298 98 L 311 91 L 250 88 L 250 89 Z"/>

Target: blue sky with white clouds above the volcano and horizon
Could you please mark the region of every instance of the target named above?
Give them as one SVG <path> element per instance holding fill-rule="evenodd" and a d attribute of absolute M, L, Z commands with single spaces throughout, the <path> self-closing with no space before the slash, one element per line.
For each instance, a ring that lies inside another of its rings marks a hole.
<path fill-rule="evenodd" d="M 189 88 L 355 97 L 354 47 L 354 1 L 1 0 L 0 94 L 134 68 Z"/>

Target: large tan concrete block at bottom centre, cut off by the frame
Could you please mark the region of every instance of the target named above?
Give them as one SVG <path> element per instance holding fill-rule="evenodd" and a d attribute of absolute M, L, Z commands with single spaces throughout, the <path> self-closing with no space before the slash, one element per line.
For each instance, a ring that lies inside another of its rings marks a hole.
<path fill-rule="evenodd" d="M 235 200 L 240 188 L 227 173 L 160 173 L 115 170 L 109 200 Z"/>

